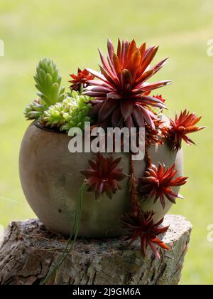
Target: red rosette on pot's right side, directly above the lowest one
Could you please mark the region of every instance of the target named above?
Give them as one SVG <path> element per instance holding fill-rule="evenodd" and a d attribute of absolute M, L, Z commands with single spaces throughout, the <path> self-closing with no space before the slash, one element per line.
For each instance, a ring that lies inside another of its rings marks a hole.
<path fill-rule="evenodd" d="M 166 168 L 162 164 L 158 167 L 151 165 L 144 172 L 143 177 L 139 179 L 138 190 L 141 196 L 147 196 L 147 199 L 154 197 L 154 202 L 160 199 L 160 202 L 165 208 L 165 199 L 168 199 L 175 204 L 176 198 L 183 198 L 180 194 L 175 193 L 171 187 L 182 186 L 187 182 L 187 177 L 176 177 L 175 164 Z"/>

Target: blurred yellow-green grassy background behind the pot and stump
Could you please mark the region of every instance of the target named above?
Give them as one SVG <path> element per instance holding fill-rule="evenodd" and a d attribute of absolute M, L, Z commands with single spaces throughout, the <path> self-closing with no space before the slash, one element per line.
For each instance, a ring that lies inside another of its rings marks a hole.
<path fill-rule="evenodd" d="M 65 85 L 77 67 L 97 68 L 97 47 L 106 40 L 136 38 L 160 45 L 157 60 L 170 56 L 158 74 L 174 84 L 160 92 L 170 113 L 188 108 L 203 115 L 208 129 L 193 135 L 198 147 L 184 146 L 185 200 L 172 213 L 194 225 L 190 250 L 182 271 L 183 284 L 213 284 L 213 243 L 207 226 L 213 224 L 213 57 L 207 41 L 213 38 L 212 0 L 2 0 L 0 38 L 0 223 L 33 217 L 18 179 L 18 151 L 28 126 L 26 104 L 35 98 L 33 73 L 40 57 L 53 58 Z M 156 78 L 155 77 L 155 78 Z"/>

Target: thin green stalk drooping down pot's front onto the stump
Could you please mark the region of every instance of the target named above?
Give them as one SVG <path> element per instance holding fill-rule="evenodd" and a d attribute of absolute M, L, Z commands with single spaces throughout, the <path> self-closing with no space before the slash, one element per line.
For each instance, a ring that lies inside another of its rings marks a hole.
<path fill-rule="evenodd" d="M 65 261 L 65 259 L 69 255 L 70 251 L 72 251 L 73 246 L 75 245 L 75 241 L 77 239 L 77 235 L 78 235 L 79 230 L 80 230 L 80 221 L 81 221 L 81 217 L 82 217 L 82 199 L 83 199 L 84 192 L 86 191 L 86 189 L 87 189 L 87 184 L 86 183 L 82 184 L 82 187 L 80 188 L 80 192 L 77 195 L 77 203 L 76 203 L 76 209 L 75 209 L 75 218 L 74 218 L 74 221 L 73 221 L 73 224 L 72 224 L 72 231 L 71 231 L 70 237 L 69 237 L 69 239 L 67 241 L 67 245 L 65 247 L 65 250 L 62 253 L 62 256 L 59 258 L 58 262 L 55 264 L 53 270 L 40 283 L 41 285 L 45 285 L 45 283 L 48 283 L 48 281 L 50 280 L 50 278 L 52 278 L 55 275 L 55 273 L 57 273 L 58 268 Z M 74 235 L 74 238 L 72 240 L 72 236 L 73 235 Z M 70 246 L 70 243 L 72 243 L 71 246 Z M 69 248 L 69 246 L 70 246 L 70 248 Z"/>

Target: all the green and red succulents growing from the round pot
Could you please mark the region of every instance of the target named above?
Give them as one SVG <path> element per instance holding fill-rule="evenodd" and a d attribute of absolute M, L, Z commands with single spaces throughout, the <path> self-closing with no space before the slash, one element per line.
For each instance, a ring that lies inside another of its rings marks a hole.
<path fill-rule="evenodd" d="M 167 201 L 175 204 L 176 199 L 182 196 L 173 188 L 185 184 L 187 178 L 177 175 L 175 164 L 154 164 L 148 150 L 153 146 L 166 145 L 175 154 L 181 150 L 182 140 L 188 145 L 194 144 L 188 135 L 204 127 L 197 127 L 201 117 L 187 110 L 180 112 L 179 116 L 175 115 L 175 119 L 168 120 L 163 115 L 167 101 L 153 90 L 171 82 L 148 83 L 168 59 L 151 65 L 158 47 L 147 47 L 146 43 L 138 47 L 134 40 L 119 40 L 116 50 L 111 41 L 107 46 L 107 58 L 99 51 L 102 61 L 100 72 L 79 68 L 76 75 L 70 75 L 71 85 L 67 92 L 61 86 L 62 78 L 55 63 L 47 58 L 42 59 L 34 76 L 38 98 L 26 107 L 25 116 L 28 120 L 35 120 L 36 125 L 56 132 L 69 132 L 73 127 L 84 130 L 85 122 L 104 130 L 107 127 L 127 127 L 129 130 L 133 127 L 136 130 L 145 128 L 146 170 L 142 177 L 136 177 L 131 160 L 133 153 L 129 153 L 129 173 L 124 173 L 119 166 L 121 158 L 97 153 L 94 159 L 89 159 L 84 169 L 80 169 L 84 182 L 78 200 L 82 204 L 84 192 L 94 192 L 94 199 L 99 200 L 104 200 L 102 194 L 106 194 L 112 199 L 113 206 L 113 196 L 121 189 L 119 182 L 129 177 L 129 199 L 124 198 L 124 201 L 129 200 L 131 208 L 127 214 L 121 215 L 121 225 L 129 231 L 126 239 L 131 240 L 131 245 L 139 238 L 143 255 L 149 246 L 155 257 L 160 258 L 156 246 L 165 250 L 169 248 L 158 236 L 165 233 L 168 227 L 160 226 L 163 218 L 154 221 L 155 212 L 152 209 L 143 211 L 143 203 L 153 200 L 155 206 L 160 201 L 162 209 L 165 209 Z M 80 219 L 81 211 L 77 209 L 77 219 Z M 75 225 L 75 238 L 79 229 L 79 225 Z"/>

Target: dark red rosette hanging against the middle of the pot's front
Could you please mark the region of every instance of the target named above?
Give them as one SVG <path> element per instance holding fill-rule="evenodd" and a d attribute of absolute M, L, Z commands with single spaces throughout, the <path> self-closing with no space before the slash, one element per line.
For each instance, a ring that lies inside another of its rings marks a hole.
<path fill-rule="evenodd" d="M 126 174 L 118 167 L 120 162 L 121 158 L 114 159 L 112 155 L 104 157 L 98 153 L 96 159 L 89 160 L 89 168 L 81 171 L 88 185 L 87 191 L 94 192 L 96 199 L 103 193 L 111 199 L 121 189 L 119 182 Z"/>

